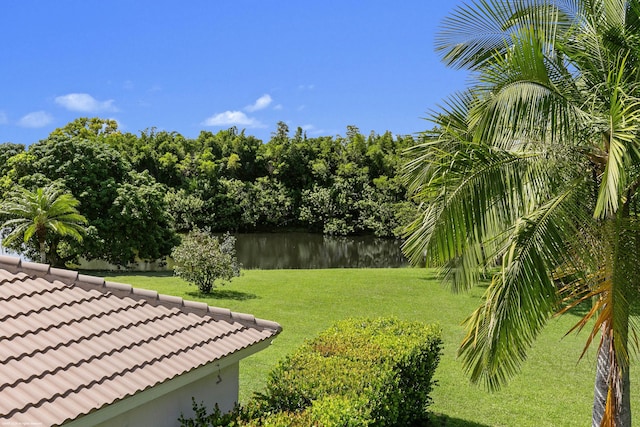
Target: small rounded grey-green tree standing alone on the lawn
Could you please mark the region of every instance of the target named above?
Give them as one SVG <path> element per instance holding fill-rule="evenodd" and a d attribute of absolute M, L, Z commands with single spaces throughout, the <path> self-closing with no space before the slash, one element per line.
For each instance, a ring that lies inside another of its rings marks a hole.
<path fill-rule="evenodd" d="M 173 272 L 197 285 L 200 292 L 211 293 L 216 280 L 240 276 L 235 243 L 229 233 L 218 238 L 202 230 L 191 231 L 171 252 L 176 263 Z"/>

